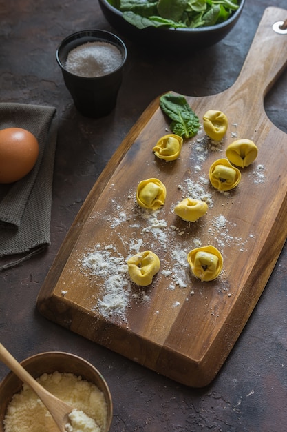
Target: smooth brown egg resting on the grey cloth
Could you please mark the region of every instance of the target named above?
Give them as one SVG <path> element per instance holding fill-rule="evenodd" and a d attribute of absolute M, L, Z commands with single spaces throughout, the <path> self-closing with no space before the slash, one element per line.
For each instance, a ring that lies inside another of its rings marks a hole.
<path fill-rule="evenodd" d="M 39 155 L 39 143 L 28 130 L 0 130 L 0 183 L 13 183 L 30 173 Z"/>

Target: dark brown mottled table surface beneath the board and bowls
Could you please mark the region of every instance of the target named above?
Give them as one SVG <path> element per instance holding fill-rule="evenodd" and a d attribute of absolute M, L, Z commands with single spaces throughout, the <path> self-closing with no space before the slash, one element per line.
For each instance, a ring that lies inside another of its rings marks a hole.
<path fill-rule="evenodd" d="M 286 246 L 231 354 L 204 389 L 149 371 L 36 310 L 36 297 L 74 217 L 131 126 L 163 92 L 212 95 L 231 86 L 268 6 L 286 8 L 287 3 L 246 0 L 242 17 L 223 41 L 176 60 L 173 52 L 154 53 L 123 38 L 128 60 L 116 109 L 103 119 L 87 119 L 72 104 L 55 49 L 77 30 L 113 31 L 97 1 L 0 0 L 1 101 L 55 106 L 59 122 L 51 245 L 0 273 L 0 341 L 19 361 L 43 351 L 68 351 L 92 362 L 114 400 L 112 431 L 287 431 Z M 287 132 L 287 70 L 267 95 L 266 112 Z M 6 373 L 0 364 L 0 379 Z"/>

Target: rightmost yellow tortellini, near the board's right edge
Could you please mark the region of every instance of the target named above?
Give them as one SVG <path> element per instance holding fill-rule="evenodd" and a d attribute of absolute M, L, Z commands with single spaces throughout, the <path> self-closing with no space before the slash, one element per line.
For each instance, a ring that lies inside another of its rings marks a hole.
<path fill-rule="evenodd" d="M 226 157 L 231 164 L 245 168 L 257 158 L 258 149 L 250 139 L 237 139 L 226 148 Z"/>

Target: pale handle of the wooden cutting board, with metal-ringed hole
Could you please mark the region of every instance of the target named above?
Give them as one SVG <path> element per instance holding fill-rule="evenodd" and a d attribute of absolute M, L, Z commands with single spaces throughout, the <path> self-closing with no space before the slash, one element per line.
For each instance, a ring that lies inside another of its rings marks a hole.
<path fill-rule="evenodd" d="M 266 8 L 234 84 L 246 92 L 253 89 L 253 95 L 262 96 L 262 103 L 287 63 L 287 31 L 279 33 L 273 29 L 274 25 L 275 28 L 279 27 L 279 21 L 286 19 L 287 10 Z"/>

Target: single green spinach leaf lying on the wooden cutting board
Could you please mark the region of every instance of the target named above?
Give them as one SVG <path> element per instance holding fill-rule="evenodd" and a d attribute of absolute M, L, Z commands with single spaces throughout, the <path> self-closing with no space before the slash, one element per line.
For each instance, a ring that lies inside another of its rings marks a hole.
<path fill-rule="evenodd" d="M 183 138 L 194 137 L 200 128 L 200 120 L 182 95 L 167 93 L 160 97 L 160 108 L 169 119 L 171 131 Z"/>

